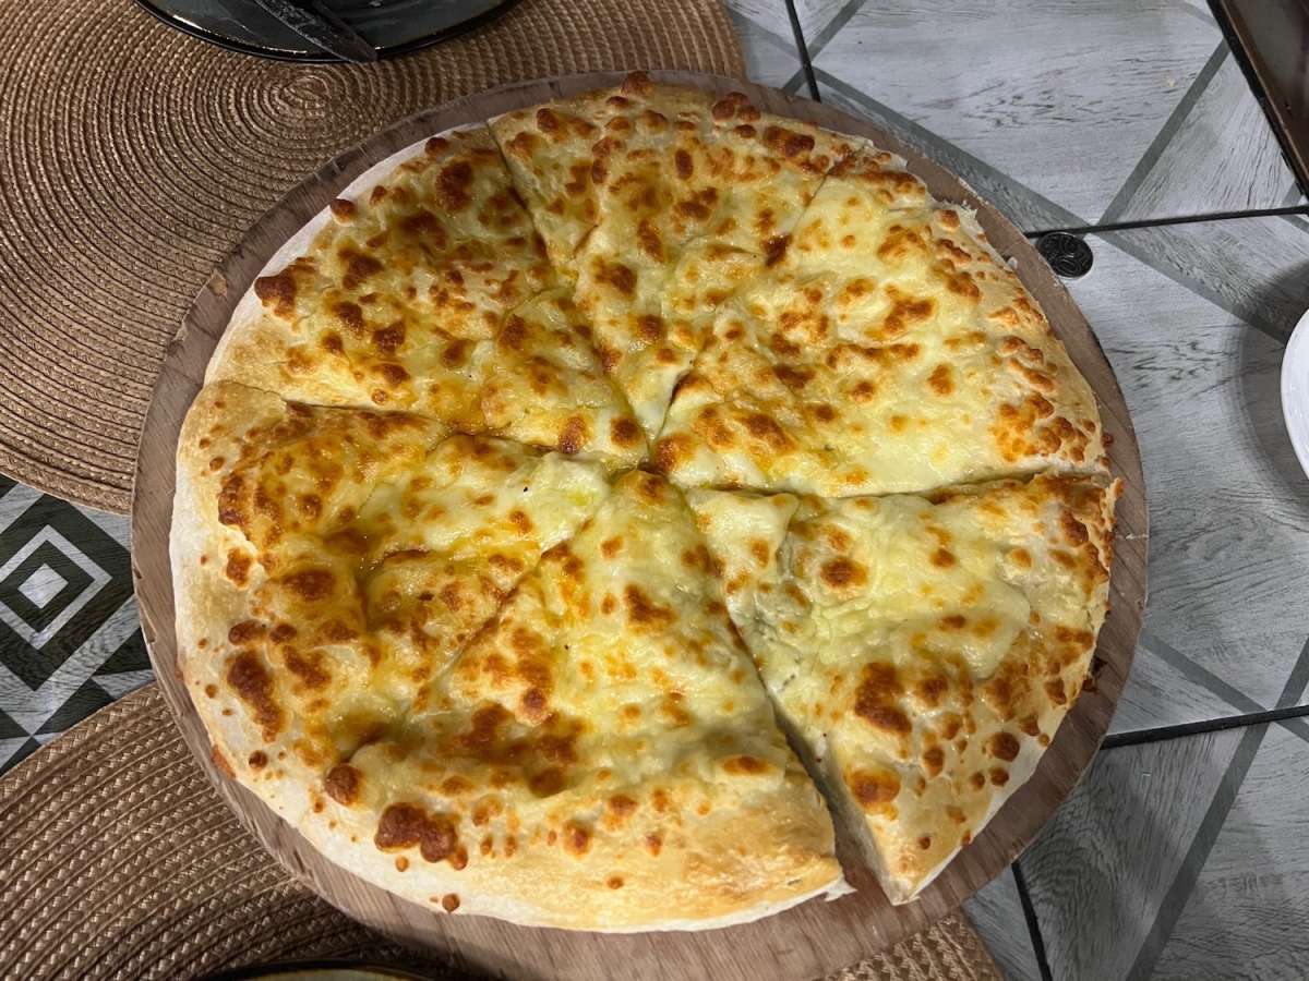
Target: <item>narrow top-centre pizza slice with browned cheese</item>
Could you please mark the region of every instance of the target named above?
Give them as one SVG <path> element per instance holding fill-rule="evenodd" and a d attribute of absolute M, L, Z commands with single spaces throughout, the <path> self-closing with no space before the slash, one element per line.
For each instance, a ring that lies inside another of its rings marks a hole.
<path fill-rule="evenodd" d="M 605 366 L 651 436 L 713 310 L 778 262 L 823 174 L 852 148 L 740 93 L 719 98 L 639 73 L 607 97 L 491 126 L 547 241 L 572 215 L 551 256 L 576 280 Z M 542 164 L 556 154 L 571 162 Z M 542 173 L 556 183 L 546 195 L 530 183 Z M 585 204 L 569 211 L 573 200 Z"/>

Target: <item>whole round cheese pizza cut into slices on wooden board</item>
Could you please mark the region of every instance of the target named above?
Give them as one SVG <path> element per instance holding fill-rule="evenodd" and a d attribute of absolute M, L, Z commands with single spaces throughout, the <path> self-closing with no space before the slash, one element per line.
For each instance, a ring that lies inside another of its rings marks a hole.
<path fill-rule="evenodd" d="M 848 891 L 838 831 L 908 901 L 1105 617 L 1118 485 L 1035 301 L 903 161 L 738 93 L 401 150 L 206 381 L 171 561 L 215 763 L 440 914 L 745 922 Z"/>

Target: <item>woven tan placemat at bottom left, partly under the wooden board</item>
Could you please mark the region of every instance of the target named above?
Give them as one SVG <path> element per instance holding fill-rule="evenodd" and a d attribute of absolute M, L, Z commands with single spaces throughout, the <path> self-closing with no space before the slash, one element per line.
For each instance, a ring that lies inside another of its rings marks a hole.
<path fill-rule="evenodd" d="M 173 978 L 361 957 L 467 977 L 336 912 L 267 855 L 191 757 L 156 685 L 0 780 L 0 977 Z M 949 917 L 830 981 L 999 981 Z"/>

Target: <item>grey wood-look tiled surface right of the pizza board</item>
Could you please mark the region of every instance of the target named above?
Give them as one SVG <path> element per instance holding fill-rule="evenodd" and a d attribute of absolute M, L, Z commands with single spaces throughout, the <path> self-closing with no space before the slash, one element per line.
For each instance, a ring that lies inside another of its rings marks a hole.
<path fill-rule="evenodd" d="M 757 80 L 894 131 L 1030 233 L 1102 229 L 1068 286 L 1140 438 L 1149 607 L 1105 751 L 967 904 L 1001 968 L 1309 976 L 1309 718 L 1258 714 L 1309 704 L 1278 388 L 1309 218 L 1249 216 L 1305 199 L 1208 5 L 795 0 L 798 37 L 785 0 L 729 5 Z"/>

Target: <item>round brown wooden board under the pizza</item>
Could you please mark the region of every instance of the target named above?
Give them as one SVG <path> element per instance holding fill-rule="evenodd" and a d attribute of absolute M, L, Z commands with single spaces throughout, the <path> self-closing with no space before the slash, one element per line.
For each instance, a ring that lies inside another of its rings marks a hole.
<path fill-rule="evenodd" d="M 350 916 L 398 938 L 439 948 L 470 968 L 530 978 L 763 977 L 812 978 L 852 964 L 956 909 L 1033 840 L 1068 795 L 1100 744 L 1122 692 L 1145 604 L 1147 511 L 1140 453 L 1127 405 L 1085 318 L 1026 238 L 958 178 L 899 140 L 830 106 L 717 76 L 653 72 L 660 81 L 713 93 L 745 92 L 761 109 L 872 139 L 908 161 L 932 194 L 974 208 L 995 247 L 1017 260 L 1018 276 L 1045 307 L 1055 332 L 1100 399 L 1114 471 L 1126 484 L 1118 504 L 1111 611 L 1100 634 L 1092 683 L 1060 726 L 1035 776 L 922 897 L 891 906 L 872 875 L 840 842 L 853 895 L 814 900 L 779 916 L 700 933 L 593 934 L 521 927 L 482 917 L 435 916 L 327 861 L 251 793 L 217 773 L 209 740 L 177 671 L 169 525 L 178 432 L 199 391 L 232 310 L 272 254 L 355 177 L 395 150 L 453 126 L 522 106 L 618 84 L 622 73 L 516 84 L 411 116 L 325 165 L 250 229 L 195 298 L 160 370 L 141 434 L 132 508 L 132 570 L 145 638 L 160 684 L 187 743 L 223 797 L 297 876 Z"/>

